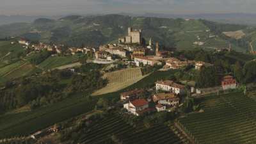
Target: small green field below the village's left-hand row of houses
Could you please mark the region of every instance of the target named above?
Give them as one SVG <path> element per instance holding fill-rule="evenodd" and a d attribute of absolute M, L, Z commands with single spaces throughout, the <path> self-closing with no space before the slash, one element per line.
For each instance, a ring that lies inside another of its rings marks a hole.
<path fill-rule="evenodd" d="M 63 65 L 68 65 L 74 63 L 79 59 L 78 55 L 74 56 L 50 56 L 45 61 L 40 63 L 38 67 L 43 68 L 44 70 L 49 70 L 56 67 L 61 67 Z"/>

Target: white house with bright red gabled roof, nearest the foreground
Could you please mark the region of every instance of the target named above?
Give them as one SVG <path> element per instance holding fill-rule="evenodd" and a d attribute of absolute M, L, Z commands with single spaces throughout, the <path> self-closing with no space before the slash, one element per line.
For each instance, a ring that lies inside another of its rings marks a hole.
<path fill-rule="evenodd" d="M 142 115 L 143 113 L 151 111 L 151 109 L 148 108 L 148 102 L 145 99 L 133 100 L 127 104 L 124 104 L 124 108 L 136 116 L 139 116 L 139 115 Z"/>

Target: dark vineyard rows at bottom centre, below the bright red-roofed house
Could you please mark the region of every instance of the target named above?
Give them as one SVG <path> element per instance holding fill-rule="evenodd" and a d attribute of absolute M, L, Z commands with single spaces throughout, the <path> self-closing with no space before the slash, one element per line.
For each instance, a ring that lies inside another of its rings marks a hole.
<path fill-rule="evenodd" d="M 108 116 L 93 125 L 92 131 L 85 133 L 79 141 L 84 144 L 116 142 L 124 144 L 182 143 L 175 133 L 163 124 L 156 124 L 149 129 L 143 126 L 134 128 L 117 115 Z"/>

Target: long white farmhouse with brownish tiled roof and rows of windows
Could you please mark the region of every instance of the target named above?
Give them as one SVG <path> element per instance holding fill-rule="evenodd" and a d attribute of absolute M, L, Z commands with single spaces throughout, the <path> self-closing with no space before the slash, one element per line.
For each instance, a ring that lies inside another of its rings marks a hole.
<path fill-rule="evenodd" d="M 185 86 L 182 84 L 174 83 L 173 81 L 157 81 L 156 82 L 156 90 L 163 90 L 165 92 L 171 92 L 175 94 L 184 94 Z"/>

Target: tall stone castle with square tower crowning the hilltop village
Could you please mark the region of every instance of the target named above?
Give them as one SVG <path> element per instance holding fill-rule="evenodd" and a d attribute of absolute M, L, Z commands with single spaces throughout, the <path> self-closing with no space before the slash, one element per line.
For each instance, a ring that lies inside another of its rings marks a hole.
<path fill-rule="evenodd" d="M 142 30 L 128 28 L 128 35 L 124 38 L 118 39 L 119 44 L 141 44 L 142 43 Z"/>

